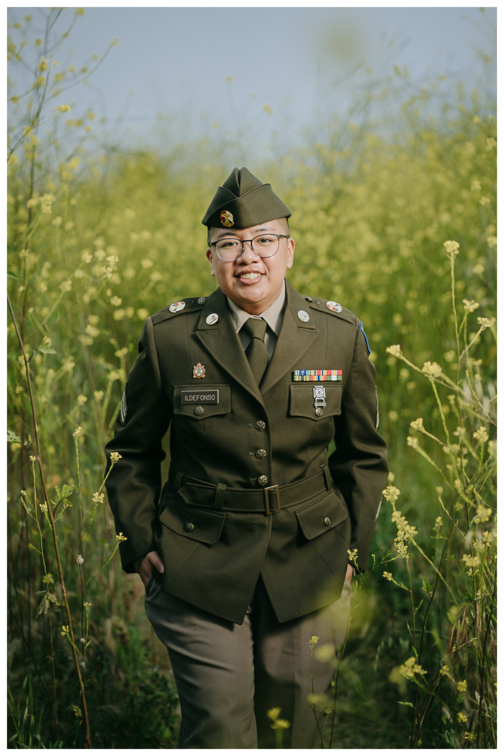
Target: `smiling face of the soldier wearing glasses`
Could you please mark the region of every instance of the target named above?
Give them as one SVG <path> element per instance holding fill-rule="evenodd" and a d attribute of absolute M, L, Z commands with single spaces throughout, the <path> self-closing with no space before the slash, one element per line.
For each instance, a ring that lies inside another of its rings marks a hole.
<path fill-rule="evenodd" d="M 210 239 L 212 242 L 226 237 L 245 240 L 261 233 L 286 234 L 286 221 L 268 221 L 252 228 L 211 228 Z M 280 239 L 278 252 L 273 257 L 259 257 L 250 244 L 245 244 L 243 253 L 234 262 L 221 260 L 215 246 L 206 249 L 206 256 L 210 272 L 224 294 L 249 314 L 260 315 L 279 296 L 286 270 L 292 268 L 294 262 L 294 248 L 293 239 Z"/>

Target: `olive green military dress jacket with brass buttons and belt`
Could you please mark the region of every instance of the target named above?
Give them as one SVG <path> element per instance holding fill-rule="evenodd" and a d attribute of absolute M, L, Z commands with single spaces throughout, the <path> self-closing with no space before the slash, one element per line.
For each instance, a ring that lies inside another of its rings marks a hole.
<path fill-rule="evenodd" d="M 365 568 L 387 481 L 362 324 L 289 283 L 286 294 L 260 389 L 220 289 L 147 318 L 106 448 L 109 465 L 121 455 L 107 494 L 125 572 L 157 550 L 164 590 L 237 624 L 259 575 L 280 622 L 337 600 L 348 550 Z M 294 370 L 342 380 L 295 381 Z"/>

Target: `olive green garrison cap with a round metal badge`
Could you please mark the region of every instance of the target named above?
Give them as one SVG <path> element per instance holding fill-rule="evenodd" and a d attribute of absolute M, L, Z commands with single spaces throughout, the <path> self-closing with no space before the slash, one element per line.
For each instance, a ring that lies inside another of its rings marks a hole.
<path fill-rule="evenodd" d="M 262 184 L 246 168 L 233 168 L 203 218 L 209 228 L 250 228 L 259 223 L 289 218 L 292 213 L 271 184 Z"/>

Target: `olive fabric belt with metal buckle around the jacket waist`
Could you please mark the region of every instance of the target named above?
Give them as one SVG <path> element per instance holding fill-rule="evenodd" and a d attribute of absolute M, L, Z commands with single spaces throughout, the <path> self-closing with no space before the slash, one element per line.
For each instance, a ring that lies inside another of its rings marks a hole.
<path fill-rule="evenodd" d="M 187 504 L 212 507 L 224 512 L 265 512 L 267 515 L 275 514 L 332 489 L 329 468 L 326 466 L 320 472 L 296 483 L 269 485 L 260 491 L 228 488 L 222 483 L 214 485 L 182 475 L 172 468 L 169 471 L 168 484 Z"/>

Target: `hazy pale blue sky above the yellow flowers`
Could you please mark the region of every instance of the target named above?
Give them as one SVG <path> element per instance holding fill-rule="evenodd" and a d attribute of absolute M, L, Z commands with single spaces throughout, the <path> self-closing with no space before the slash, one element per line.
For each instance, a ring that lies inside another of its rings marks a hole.
<path fill-rule="evenodd" d="M 9 11 L 27 13 L 41 28 L 36 8 Z M 294 142 L 347 112 L 394 64 L 414 82 L 478 85 L 495 29 L 496 8 L 85 8 L 58 58 L 79 67 L 119 38 L 67 97 L 127 143 L 238 135 L 261 150 L 272 133 Z"/>

